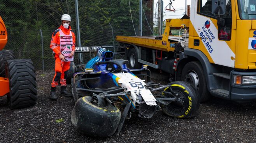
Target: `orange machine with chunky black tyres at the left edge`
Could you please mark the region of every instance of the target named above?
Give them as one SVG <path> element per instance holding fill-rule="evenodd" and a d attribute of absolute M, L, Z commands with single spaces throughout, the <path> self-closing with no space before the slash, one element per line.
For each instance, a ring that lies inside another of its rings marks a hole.
<path fill-rule="evenodd" d="M 30 59 L 14 59 L 12 50 L 3 50 L 7 30 L 0 16 L 0 97 L 7 95 L 11 109 L 33 106 L 37 101 L 37 82 Z"/>

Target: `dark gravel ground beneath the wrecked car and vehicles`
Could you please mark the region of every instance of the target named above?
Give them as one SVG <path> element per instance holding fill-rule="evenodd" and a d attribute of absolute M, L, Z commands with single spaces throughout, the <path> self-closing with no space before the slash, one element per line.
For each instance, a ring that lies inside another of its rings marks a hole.
<path fill-rule="evenodd" d="M 256 142 L 256 103 L 238 104 L 213 98 L 200 104 L 193 119 L 168 117 L 158 111 L 151 119 L 133 114 L 119 136 L 91 138 L 74 128 L 70 115 L 72 97 L 49 99 L 53 72 L 37 72 L 36 106 L 10 110 L 0 97 L 0 142 Z M 167 83 L 168 75 L 152 72 L 155 82 Z M 68 87 L 70 91 L 70 87 Z M 59 94 L 59 88 L 57 88 Z M 56 123 L 56 119 L 63 122 Z"/>

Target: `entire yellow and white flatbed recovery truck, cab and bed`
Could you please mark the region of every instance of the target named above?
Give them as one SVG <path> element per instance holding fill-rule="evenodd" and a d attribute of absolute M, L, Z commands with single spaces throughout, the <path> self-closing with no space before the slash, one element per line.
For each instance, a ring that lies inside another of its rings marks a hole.
<path fill-rule="evenodd" d="M 256 1 L 192 0 L 190 17 L 166 19 L 162 36 L 116 36 L 132 68 L 147 64 L 210 95 L 256 99 Z"/>

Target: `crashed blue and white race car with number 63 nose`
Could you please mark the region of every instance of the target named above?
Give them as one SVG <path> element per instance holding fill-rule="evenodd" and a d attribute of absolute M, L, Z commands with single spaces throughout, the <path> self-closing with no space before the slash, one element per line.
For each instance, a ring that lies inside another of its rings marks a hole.
<path fill-rule="evenodd" d="M 128 63 L 113 60 L 111 51 L 98 48 L 95 58 L 76 66 L 71 121 L 77 129 L 89 136 L 107 137 L 119 134 L 131 114 L 149 119 L 161 109 L 172 117 L 196 116 L 199 95 L 189 83 L 154 84 L 147 65 L 129 69 Z"/>

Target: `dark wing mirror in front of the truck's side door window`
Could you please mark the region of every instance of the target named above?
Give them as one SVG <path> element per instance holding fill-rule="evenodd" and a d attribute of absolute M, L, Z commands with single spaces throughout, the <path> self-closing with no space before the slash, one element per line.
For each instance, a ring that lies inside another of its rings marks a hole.
<path fill-rule="evenodd" d="M 226 12 L 226 0 L 212 0 L 212 14 L 223 15 Z"/>

